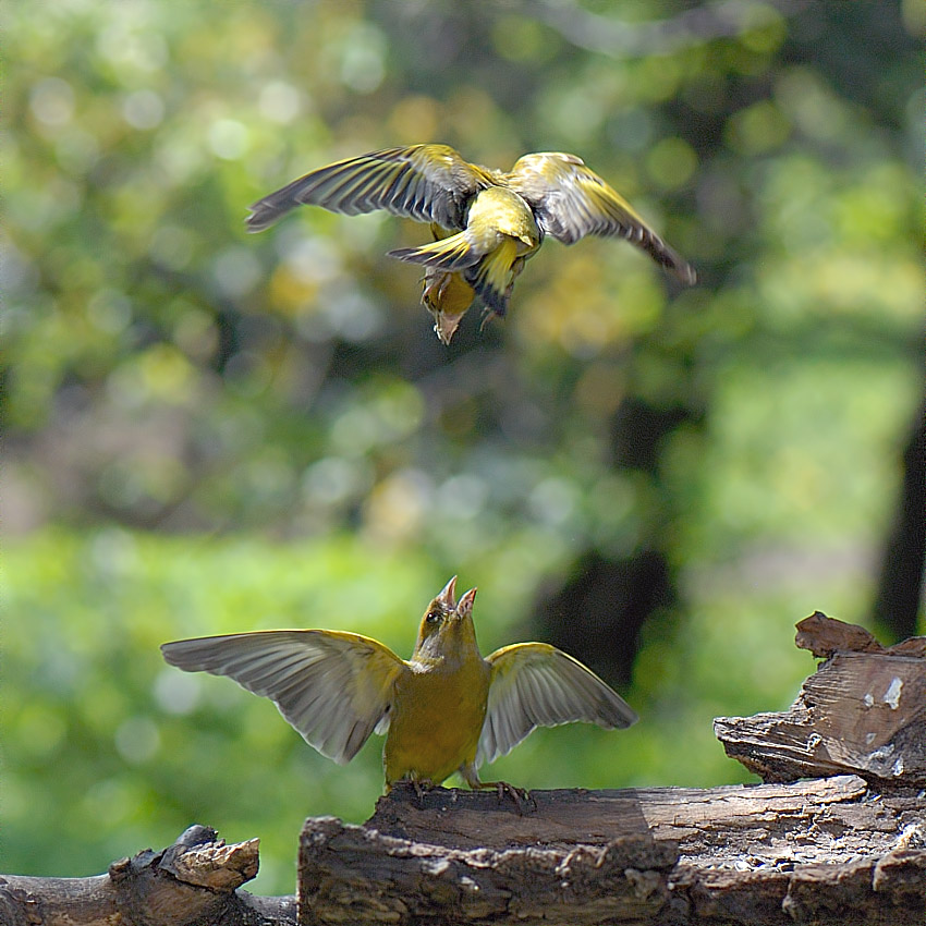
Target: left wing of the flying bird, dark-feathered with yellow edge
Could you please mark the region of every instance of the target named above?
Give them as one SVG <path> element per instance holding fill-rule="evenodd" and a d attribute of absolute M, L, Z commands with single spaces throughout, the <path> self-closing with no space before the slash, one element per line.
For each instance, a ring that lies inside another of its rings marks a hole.
<path fill-rule="evenodd" d="M 393 216 L 462 229 L 466 204 L 492 175 L 448 145 L 385 148 L 314 170 L 251 206 L 247 230 L 263 231 L 290 209 L 322 206 L 356 216 L 386 209 Z"/>

